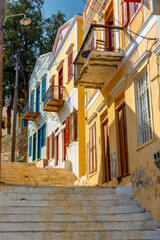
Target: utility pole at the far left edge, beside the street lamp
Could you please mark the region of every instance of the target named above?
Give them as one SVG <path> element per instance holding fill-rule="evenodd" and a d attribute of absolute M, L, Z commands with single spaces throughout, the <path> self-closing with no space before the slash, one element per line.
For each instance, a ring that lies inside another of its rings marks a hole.
<path fill-rule="evenodd" d="M 1 142 L 2 142 L 2 109 L 3 109 L 3 41 L 4 41 L 5 0 L 0 0 L 0 182 L 1 182 Z"/>

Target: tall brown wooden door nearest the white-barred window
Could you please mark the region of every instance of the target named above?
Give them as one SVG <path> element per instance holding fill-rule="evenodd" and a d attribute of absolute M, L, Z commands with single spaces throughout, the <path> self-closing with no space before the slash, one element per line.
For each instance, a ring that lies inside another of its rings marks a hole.
<path fill-rule="evenodd" d="M 118 109 L 118 125 L 119 125 L 119 147 L 120 147 L 121 176 L 124 176 L 129 172 L 129 169 L 128 169 L 127 123 L 126 123 L 126 107 L 125 107 L 125 104 L 123 104 Z"/>

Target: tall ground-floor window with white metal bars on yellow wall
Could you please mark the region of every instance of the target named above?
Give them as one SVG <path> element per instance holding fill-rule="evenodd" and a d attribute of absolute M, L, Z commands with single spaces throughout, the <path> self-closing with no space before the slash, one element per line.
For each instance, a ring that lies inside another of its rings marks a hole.
<path fill-rule="evenodd" d="M 152 119 L 147 68 L 136 79 L 138 145 L 152 139 Z"/>

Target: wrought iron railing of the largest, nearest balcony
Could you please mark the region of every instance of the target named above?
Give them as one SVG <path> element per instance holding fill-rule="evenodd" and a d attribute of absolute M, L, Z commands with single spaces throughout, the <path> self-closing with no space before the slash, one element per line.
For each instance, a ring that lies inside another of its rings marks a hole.
<path fill-rule="evenodd" d="M 115 65 L 114 60 L 118 56 L 122 56 L 124 39 L 125 32 L 122 27 L 92 24 L 74 61 L 74 81 L 76 82 L 78 75 L 83 71 L 83 67 L 87 64 L 89 58 L 91 61 L 95 61 L 97 58 L 99 62 L 106 63 L 106 66 L 108 66 L 107 61 L 110 60 Z M 110 56 L 114 57 L 114 59 L 110 59 Z M 93 67 L 97 63 L 91 62 L 89 65 Z"/>

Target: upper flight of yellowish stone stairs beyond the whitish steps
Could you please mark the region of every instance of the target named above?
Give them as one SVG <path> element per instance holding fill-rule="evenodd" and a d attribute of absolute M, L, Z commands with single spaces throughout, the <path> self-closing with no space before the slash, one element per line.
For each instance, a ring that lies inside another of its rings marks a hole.
<path fill-rule="evenodd" d="M 73 185 L 77 178 L 70 171 L 60 168 L 38 168 L 34 163 L 2 161 L 1 180 L 10 184 L 55 186 Z"/>

